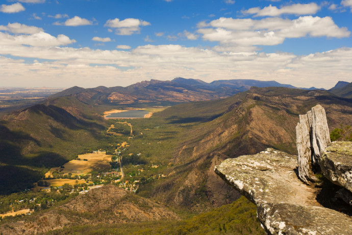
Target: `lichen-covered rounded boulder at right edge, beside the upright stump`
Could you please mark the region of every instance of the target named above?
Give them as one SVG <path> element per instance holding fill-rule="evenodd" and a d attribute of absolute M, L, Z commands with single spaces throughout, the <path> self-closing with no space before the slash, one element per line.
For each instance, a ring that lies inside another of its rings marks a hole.
<path fill-rule="evenodd" d="M 320 158 L 323 175 L 352 192 L 352 142 L 333 142 Z"/>

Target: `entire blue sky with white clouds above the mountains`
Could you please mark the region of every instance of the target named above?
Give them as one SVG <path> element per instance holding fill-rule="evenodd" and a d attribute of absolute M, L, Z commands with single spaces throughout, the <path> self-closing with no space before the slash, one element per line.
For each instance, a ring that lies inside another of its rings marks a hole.
<path fill-rule="evenodd" d="M 352 0 L 0 0 L 0 86 L 352 82 Z"/>

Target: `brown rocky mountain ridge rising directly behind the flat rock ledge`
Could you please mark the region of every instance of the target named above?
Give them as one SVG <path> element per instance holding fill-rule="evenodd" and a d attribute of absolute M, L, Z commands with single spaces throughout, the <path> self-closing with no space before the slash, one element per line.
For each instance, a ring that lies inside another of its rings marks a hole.
<path fill-rule="evenodd" d="M 253 87 L 221 101 L 182 104 L 156 114 L 169 122 L 194 123 L 193 128 L 185 133 L 186 140 L 174 152 L 177 174 L 156 185 L 150 197 L 167 204 L 196 208 L 198 190 L 202 189 L 200 185 L 205 185 L 209 200 L 205 202 L 220 205 L 233 200 L 238 194 L 220 178 L 207 173 L 213 169 L 214 162 L 255 154 L 268 147 L 296 154 L 295 126 L 299 114 L 317 103 L 327 110 L 330 129 L 350 124 L 350 101 L 322 90 L 274 87 Z"/>

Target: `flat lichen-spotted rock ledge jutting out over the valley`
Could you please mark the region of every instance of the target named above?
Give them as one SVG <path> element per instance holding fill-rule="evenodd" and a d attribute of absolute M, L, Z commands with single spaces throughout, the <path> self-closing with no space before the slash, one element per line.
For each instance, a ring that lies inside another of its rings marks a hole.
<path fill-rule="evenodd" d="M 297 156 L 274 149 L 224 160 L 215 172 L 257 205 L 270 234 L 351 234 L 352 218 L 322 207 L 297 177 Z"/>

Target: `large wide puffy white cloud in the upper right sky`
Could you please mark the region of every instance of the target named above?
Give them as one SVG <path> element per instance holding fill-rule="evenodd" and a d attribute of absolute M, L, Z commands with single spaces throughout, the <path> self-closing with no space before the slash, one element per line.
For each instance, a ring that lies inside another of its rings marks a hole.
<path fill-rule="evenodd" d="M 300 16 L 297 19 L 279 17 L 254 19 L 233 19 L 221 17 L 209 23 L 198 23 L 196 32 L 204 40 L 219 41 L 221 44 L 251 46 L 281 44 L 285 38 L 348 37 L 347 28 L 339 28 L 331 17 Z M 211 28 L 205 28 L 211 27 Z"/>

